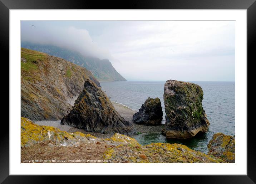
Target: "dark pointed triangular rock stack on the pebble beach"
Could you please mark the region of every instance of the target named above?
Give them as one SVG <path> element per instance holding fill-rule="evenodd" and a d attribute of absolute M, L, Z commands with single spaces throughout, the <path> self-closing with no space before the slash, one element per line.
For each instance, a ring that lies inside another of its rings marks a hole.
<path fill-rule="evenodd" d="M 104 134 L 135 133 L 131 124 L 115 111 L 105 93 L 90 80 L 85 81 L 84 90 L 79 94 L 70 113 L 61 120 L 61 124 Z"/>

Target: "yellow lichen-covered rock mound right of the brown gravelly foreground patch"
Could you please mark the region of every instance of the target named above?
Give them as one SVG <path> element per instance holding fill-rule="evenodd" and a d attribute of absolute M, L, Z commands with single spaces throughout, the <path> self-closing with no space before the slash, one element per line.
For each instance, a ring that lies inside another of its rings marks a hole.
<path fill-rule="evenodd" d="M 185 145 L 169 143 L 122 145 L 107 150 L 103 158 L 111 160 L 112 163 L 225 163 Z"/>

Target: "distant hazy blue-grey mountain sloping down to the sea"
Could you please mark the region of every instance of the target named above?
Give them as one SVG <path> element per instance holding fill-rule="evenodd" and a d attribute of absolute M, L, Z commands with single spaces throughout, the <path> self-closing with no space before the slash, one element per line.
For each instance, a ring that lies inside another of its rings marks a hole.
<path fill-rule="evenodd" d="M 63 58 L 73 62 L 79 66 L 90 70 L 94 77 L 99 81 L 126 81 L 107 59 L 100 60 L 95 57 L 84 57 L 79 52 L 71 51 L 66 48 L 61 48 L 53 45 L 32 44 L 30 42 L 21 42 L 21 47 L 31 50 L 45 52 L 49 55 Z"/>

